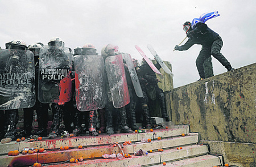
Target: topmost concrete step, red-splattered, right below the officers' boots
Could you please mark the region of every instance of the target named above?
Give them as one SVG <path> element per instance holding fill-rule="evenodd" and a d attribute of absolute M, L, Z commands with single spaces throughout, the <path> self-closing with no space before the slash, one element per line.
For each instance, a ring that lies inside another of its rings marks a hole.
<path fill-rule="evenodd" d="M 88 147 L 91 145 L 106 145 L 111 143 L 123 143 L 127 140 L 131 142 L 141 141 L 142 138 L 151 138 L 155 133 L 154 137 L 162 136 L 162 138 L 170 138 L 173 136 L 180 136 L 181 134 L 189 134 L 188 126 L 175 126 L 175 129 L 159 129 L 154 130 L 153 132 L 146 133 L 133 133 L 133 134 L 115 134 L 115 135 L 99 135 L 99 136 L 79 136 L 73 138 L 63 138 L 63 139 L 43 139 L 42 141 L 36 142 L 10 142 L 5 144 L 0 144 L 0 155 L 7 154 L 9 151 L 18 150 L 22 151 L 24 148 L 44 148 L 49 149 L 58 149 L 63 145 L 72 147 L 78 147 L 82 145 Z"/>

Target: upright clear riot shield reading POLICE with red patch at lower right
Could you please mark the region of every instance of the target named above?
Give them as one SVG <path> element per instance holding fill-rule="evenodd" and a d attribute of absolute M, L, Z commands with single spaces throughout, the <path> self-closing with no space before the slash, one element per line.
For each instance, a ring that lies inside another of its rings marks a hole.
<path fill-rule="evenodd" d="M 72 50 L 43 46 L 39 53 L 38 100 L 42 103 L 71 100 Z"/>

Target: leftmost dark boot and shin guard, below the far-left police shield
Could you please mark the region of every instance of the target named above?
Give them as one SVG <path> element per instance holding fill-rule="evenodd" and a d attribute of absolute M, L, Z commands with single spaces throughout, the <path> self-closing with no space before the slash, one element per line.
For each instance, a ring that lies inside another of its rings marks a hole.
<path fill-rule="evenodd" d="M 11 138 L 11 140 L 16 139 L 16 125 L 19 121 L 18 109 L 7 110 L 7 131 L 4 138 Z"/>

